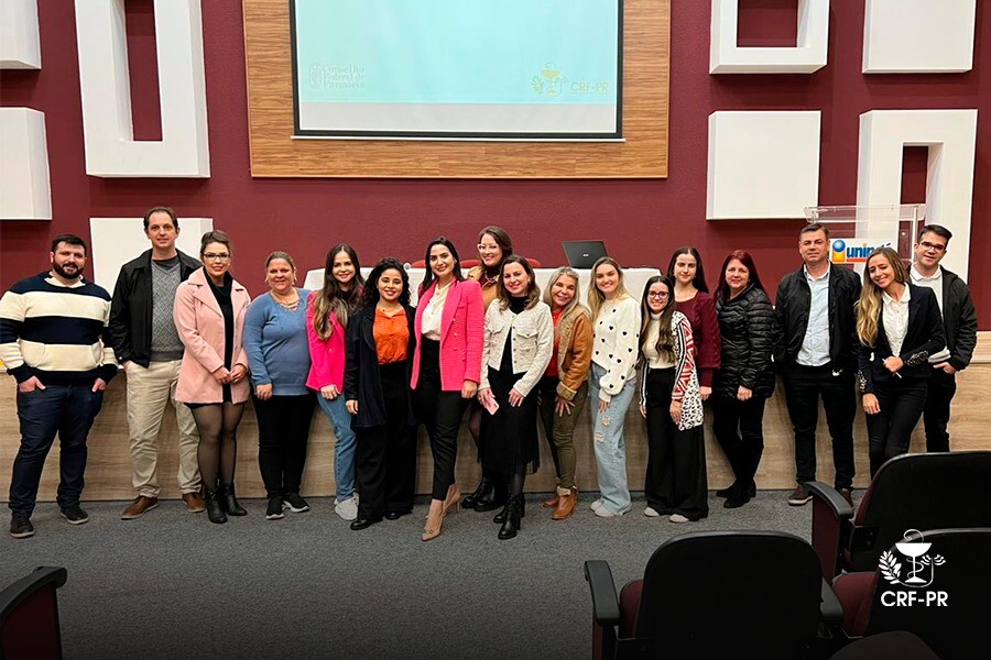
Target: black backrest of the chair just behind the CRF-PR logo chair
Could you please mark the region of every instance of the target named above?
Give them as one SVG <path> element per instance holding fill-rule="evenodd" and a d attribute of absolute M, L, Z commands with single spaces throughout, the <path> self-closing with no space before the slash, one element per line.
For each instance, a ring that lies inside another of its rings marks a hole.
<path fill-rule="evenodd" d="M 878 471 L 853 518 L 850 571 L 873 571 L 907 529 L 991 527 L 991 451 L 904 454 Z"/>

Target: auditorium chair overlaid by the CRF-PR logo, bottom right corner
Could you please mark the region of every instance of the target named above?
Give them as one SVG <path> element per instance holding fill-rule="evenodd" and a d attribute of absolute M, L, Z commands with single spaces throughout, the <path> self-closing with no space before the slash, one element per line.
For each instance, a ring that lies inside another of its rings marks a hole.
<path fill-rule="evenodd" d="M 917 580 L 929 584 L 903 584 L 914 568 L 899 549 L 905 543 L 891 546 L 891 554 L 872 571 L 837 576 L 834 588 L 843 607 L 845 635 L 856 639 L 907 630 L 943 660 L 987 658 L 991 528 L 923 531 L 907 540 L 908 546 L 929 544 L 915 560 L 923 571 Z"/>

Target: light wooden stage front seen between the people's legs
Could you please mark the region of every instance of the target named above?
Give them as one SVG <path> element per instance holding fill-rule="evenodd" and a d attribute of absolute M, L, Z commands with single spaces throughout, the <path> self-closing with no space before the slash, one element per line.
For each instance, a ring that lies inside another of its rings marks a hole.
<path fill-rule="evenodd" d="M 128 457 L 128 421 L 126 375 L 110 383 L 104 399 L 104 410 L 97 418 L 89 436 L 89 464 L 86 470 L 85 499 L 130 499 L 134 496 L 131 488 L 131 466 Z M 954 399 L 952 419 L 950 421 L 950 442 L 954 450 L 991 450 L 988 427 L 991 414 L 987 402 L 991 399 L 991 364 L 972 364 L 957 376 L 957 396 Z M 17 454 L 19 440 L 17 404 L 14 402 L 17 385 L 13 377 L 0 377 L 0 499 L 8 495 L 10 486 L 11 463 Z M 468 436 L 467 425 L 462 425 L 459 440 L 457 480 L 461 488 L 472 488 L 478 482 L 479 469 L 475 461 L 475 444 Z M 859 411 L 853 426 L 857 487 L 864 487 L 868 482 L 867 429 L 863 413 Z M 161 432 L 162 452 L 160 454 L 159 481 L 163 486 L 163 497 L 177 498 L 178 488 L 175 483 L 177 454 L 175 447 L 175 418 L 168 409 Z M 543 436 L 543 433 L 541 433 Z M 254 414 L 248 410 L 239 428 L 238 446 L 238 493 L 246 497 L 263 497 L 264 487 L 258 471 L 258 426 Z M 825 415 L 819 416 L 818 464 L 820 481 L 832 483 L 832 454 L 829 436 L 826 430 Z M 314 415 L 311 429 L 309 457 L 303 479 L 305 495 L 333 496 L 333 431 L 330 425 L 319 410 Z M 578 483 L 582 491 L 596 490 L 596 461 L 592 452 L 588 411 L 578 424 L 575 433 L 578 452 Z M 781 384 L 769 402 L 764 414 L 764 455 L 756 475 L 758 487 L 791 488 L 795 479 L 794 436 L 785 409 Z M 706 451 L 708 458 L 709 488 L 728 485 L 732 479 L 722 451 L 711 432 L 711 416 L 706 419 Z M 912 451 L 925 451 L 925 438 L 922 424 L 915 430 Z M 542 459 L 540 472 L 527 477 L 526 490 L 530 492 L 551 491 L 554 487 L 554 468 L 547 453 L 546 443 L 542 440 Z M 634 491 L 643 490 L 644 464 L 646 462 L 646 435 L 643 420 L 635 406 L 627 416 L 627 464 L 630 486 Z M 417 454 L 417 492 L 428 493 L 433 462 L 426 436 L 421 432 Z M 42 501 L 54 501 L 58 482 L 58 450 L 53 449 L 45 465 L 42 487 L 39 494 Z"/>

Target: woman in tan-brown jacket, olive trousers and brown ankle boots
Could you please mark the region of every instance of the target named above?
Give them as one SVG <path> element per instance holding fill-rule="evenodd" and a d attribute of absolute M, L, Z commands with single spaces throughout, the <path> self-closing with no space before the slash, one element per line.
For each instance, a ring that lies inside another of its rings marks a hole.
<path fill-rule="evenodd" d="M 544 302 L 554 321 L 554 353 L 541 382 L 540 414 L 557 472 L 557 490 L 544 508 L 551 518 L 564 520 L 575 510 L 575 425 L 588 400 L 588 367 L 591 365 L 592 330 L 588 309 L 578 300 L 578 273 L 554 271 L 544 290 Z"/>

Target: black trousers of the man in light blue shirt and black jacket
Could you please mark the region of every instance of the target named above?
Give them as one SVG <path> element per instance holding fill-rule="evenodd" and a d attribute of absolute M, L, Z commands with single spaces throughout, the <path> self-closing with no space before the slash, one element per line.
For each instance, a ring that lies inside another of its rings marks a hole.
<path fill-rule="evenodd" d="M 853 373 L 834 375 L 829 365 L 793 364 L 785 372 L 785 400 L 795 428 L 795 481 L 816 479 L 816 427 L 819 424 L 819 397 L 826 410 L 826 424 L 832 438 L 834 485 L 853 485 L 853 418 L 857 395 Z"/>

